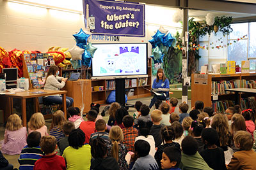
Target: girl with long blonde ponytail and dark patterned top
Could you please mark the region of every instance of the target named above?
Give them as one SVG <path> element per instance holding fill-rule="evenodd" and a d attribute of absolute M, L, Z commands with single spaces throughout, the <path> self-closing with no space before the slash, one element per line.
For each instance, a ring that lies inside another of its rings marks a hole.
<path fill-rule="evenodd" d="M 111 139 L 111 144 L 108 147 L 108 155 L 116 159 L 120 170 L 127 170 L 128 164 L 125 160 L 125 155 L 128 150 L 127 147 L 122 144 L 124 139 L 122 129 L 117 125 L 113 126 L 110 129 L 109 138 Z"/>

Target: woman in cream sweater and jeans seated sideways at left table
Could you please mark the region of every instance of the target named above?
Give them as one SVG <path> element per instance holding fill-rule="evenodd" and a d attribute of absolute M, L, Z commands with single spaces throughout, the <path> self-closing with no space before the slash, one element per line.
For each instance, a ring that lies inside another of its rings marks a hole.
<path fill-rule="evenodd" d="M 52 65 L 47 73 L 44 90 L 60 90 L 62 89 L 68 78 L 59 77 L 59 68 L 55 65 Z M 60 83 L 61 81 L 61 83 Z M 66 97 L 67 108 L 71 106 L 73 103 L 72 97 Z M 52 96 L 45 96 L 44 102 L 46 103 L 55 103 L 55 104 L 62 104 L 62 96 L 60 94 L 52 95 Z"/>

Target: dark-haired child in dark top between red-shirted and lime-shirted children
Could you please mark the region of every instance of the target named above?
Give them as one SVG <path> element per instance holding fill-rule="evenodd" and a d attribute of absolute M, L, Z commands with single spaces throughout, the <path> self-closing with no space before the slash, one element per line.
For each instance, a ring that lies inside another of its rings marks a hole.
<path fill-rule="evenodd" d="M 67 122 L 64 122 L 62 129 L 65 134 L 65 137 L 61 138 L 57 143 L 57 145 L 59 146 L 59 149 L 60 149 L 60 155 L 62 155 L 65 148 L 67 148 L 67 146 L 69 146 L 68 136 L 69 136 L 70 132 L 73 129 L 75 129 L 75 125 L 73 122 L 67 121 Z"/>

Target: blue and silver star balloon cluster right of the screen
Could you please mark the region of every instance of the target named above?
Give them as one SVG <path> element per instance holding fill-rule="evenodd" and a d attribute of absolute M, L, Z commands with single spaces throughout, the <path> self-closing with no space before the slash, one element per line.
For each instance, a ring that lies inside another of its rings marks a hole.
<path fill-rule="evenodd" d="M 167 55 L 168 49 L 172 46 L 175 38 L 172 37 L 170 32 L 166 34 L 159 30 L 157 30 L 152 38 L 149 40 L 152 45 L 152 55 L 150 57 L 154 60 L 154 64 L 163 63 L 164 55 Z"/>

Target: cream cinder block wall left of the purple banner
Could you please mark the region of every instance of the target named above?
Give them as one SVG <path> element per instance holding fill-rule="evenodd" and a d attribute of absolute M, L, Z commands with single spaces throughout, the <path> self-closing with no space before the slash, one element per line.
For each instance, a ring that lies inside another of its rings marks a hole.
<path fill-rule="evenodd" d="M 7 51 L 72 48 L 80 28 L 83 15 L 0 0 L 0 46 Z"/>

